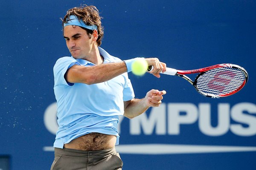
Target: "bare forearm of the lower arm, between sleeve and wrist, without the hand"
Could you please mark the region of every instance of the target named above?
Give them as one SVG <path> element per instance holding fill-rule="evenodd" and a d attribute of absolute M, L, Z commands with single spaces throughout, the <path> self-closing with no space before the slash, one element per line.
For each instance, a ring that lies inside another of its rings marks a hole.
<path fill-rule="evenodd" d="M 143 99 L 132 99 L 125 104 L 124 116 L 132 119 L 140 114 L 144 113 L 149 106 L 146 104 L 145 98 Z"/>

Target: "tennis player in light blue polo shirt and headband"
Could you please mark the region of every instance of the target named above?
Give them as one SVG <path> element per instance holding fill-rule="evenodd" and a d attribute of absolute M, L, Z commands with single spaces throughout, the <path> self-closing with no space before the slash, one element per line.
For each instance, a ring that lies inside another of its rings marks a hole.
<path fill-rule="evenodd" d="M 103 28 L 95 6 L 70 9 L 62 24 L 72 57 L 58 59 L 53 68 L 59 127 L 51 170 L 121 170 L 115 150 L 119 116 L 131 119 L 159 106 L 166 92 L 134 99 L 127 72 L 137 58 L 122 61 L 99 47 Z M 145 60 L 154 76 L 166 71 L 157 58 Z"/>

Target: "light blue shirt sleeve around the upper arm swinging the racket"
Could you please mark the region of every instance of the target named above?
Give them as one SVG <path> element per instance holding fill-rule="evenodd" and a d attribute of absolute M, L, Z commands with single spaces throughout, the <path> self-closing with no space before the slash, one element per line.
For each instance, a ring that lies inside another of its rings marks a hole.
<path fill-rule="evenodd" d="M 62 57 L 57 60 L 53 67 L 54 83 L 55 85 L 74 85 L 74 83 L 67 82 L 64 78 L 67 70 L 73 65 L 80 65 L 76 59 L 72 57 Z"/>

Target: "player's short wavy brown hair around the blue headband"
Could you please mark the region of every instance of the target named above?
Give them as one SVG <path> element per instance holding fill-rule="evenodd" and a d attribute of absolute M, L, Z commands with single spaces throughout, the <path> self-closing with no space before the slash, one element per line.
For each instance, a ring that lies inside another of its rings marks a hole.
<path fill-rule="evenodd" d="M 103 26 L 101 25 L 102 17 L 99 16 L 99 10 L 95 6 L 86 6 L 86 5 L 69 9 L 67 11 L 67 14 L 64 16 L 64 19 L 62 19 L 63 29 L 64 29 L 64 23 L 67 23 L 67 20 L 70 19 L 70 15 L 75 15 L 79 20 L 84 21 L 84 23 L 88 26 L 93 26 L 93 25 L 97 26 L 98 39 L 96 40 L 96 42 L 97 42 L 97 45 L 100 46 L 102 43 L 104 31 L 103 31 Z M 85 29 L 89 37 L 91 37 L 91 34 L 93 33 L 93 31 L 87 28 L 83 28 L 83 29 Z"/>

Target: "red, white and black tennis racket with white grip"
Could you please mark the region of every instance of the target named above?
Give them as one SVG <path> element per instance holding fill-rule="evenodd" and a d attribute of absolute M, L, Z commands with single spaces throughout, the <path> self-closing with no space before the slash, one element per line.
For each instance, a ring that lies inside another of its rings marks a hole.
<path fill-rule="evenodd" d="M 153 69 L 153 66 L 148 66 L 149 72 Z M 194 81 L 185 75 L 195 73 L 199 74 Z M 162 74 L 182 77 L 190 82 L 200 94 L 212 98 L 227 97 L 235 94 L 248 81 L 247 71 L 239 65 L 234 64 L 218 64 L 186 71 L 166 68 L 166 72 Z"/>

